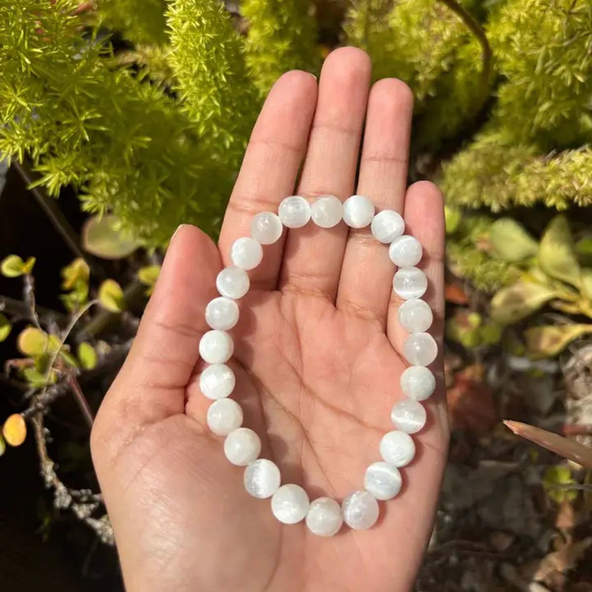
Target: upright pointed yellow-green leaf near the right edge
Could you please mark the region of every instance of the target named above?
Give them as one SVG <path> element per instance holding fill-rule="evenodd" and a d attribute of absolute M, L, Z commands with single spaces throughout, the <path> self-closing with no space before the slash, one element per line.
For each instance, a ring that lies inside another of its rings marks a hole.
<path fill-rule="evenodd" d="M 547 226 L 539 247 L 540 268 L 552 278 L 581 287 L 580 264 L 565 214 L 558 214 Z"/>

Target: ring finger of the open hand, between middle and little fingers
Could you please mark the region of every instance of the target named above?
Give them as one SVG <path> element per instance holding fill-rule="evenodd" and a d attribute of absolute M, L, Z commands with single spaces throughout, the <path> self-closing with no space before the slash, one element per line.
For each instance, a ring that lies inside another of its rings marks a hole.
<path fill-rule="evenodd" d="M 394 78 L 377 82 L 370 92 L 362 160 L 356 193 L 380 210 L 403 213 L 413 94 Z M 388 245 L 370 231 L 350 229 L 337 292 L 337 308 L 384 327 L 395 266 Z"/>

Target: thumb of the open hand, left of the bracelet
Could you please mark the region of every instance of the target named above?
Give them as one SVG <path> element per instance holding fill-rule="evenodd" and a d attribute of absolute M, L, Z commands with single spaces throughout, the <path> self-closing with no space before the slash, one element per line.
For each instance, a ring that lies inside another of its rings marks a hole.
<path fill-rule="evenodd" d="M 194 226 L 179 227 L 130 353 L 99 410 L 95 442 L 104 434 L 117 446 L 144 424 L 183 413 L 220 268 L 210 237 Z"/>

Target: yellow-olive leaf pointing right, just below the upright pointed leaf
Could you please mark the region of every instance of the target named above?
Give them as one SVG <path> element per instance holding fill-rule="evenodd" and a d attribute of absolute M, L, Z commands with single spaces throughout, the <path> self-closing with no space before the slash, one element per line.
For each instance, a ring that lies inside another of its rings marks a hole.
<path fill-rule="evenodd" d="M 502 288 L 491 299 L 491 318 L 503 324 L 515 323 L 556 295 L 554 289 L 520 279 L 516 284 Z"/>

